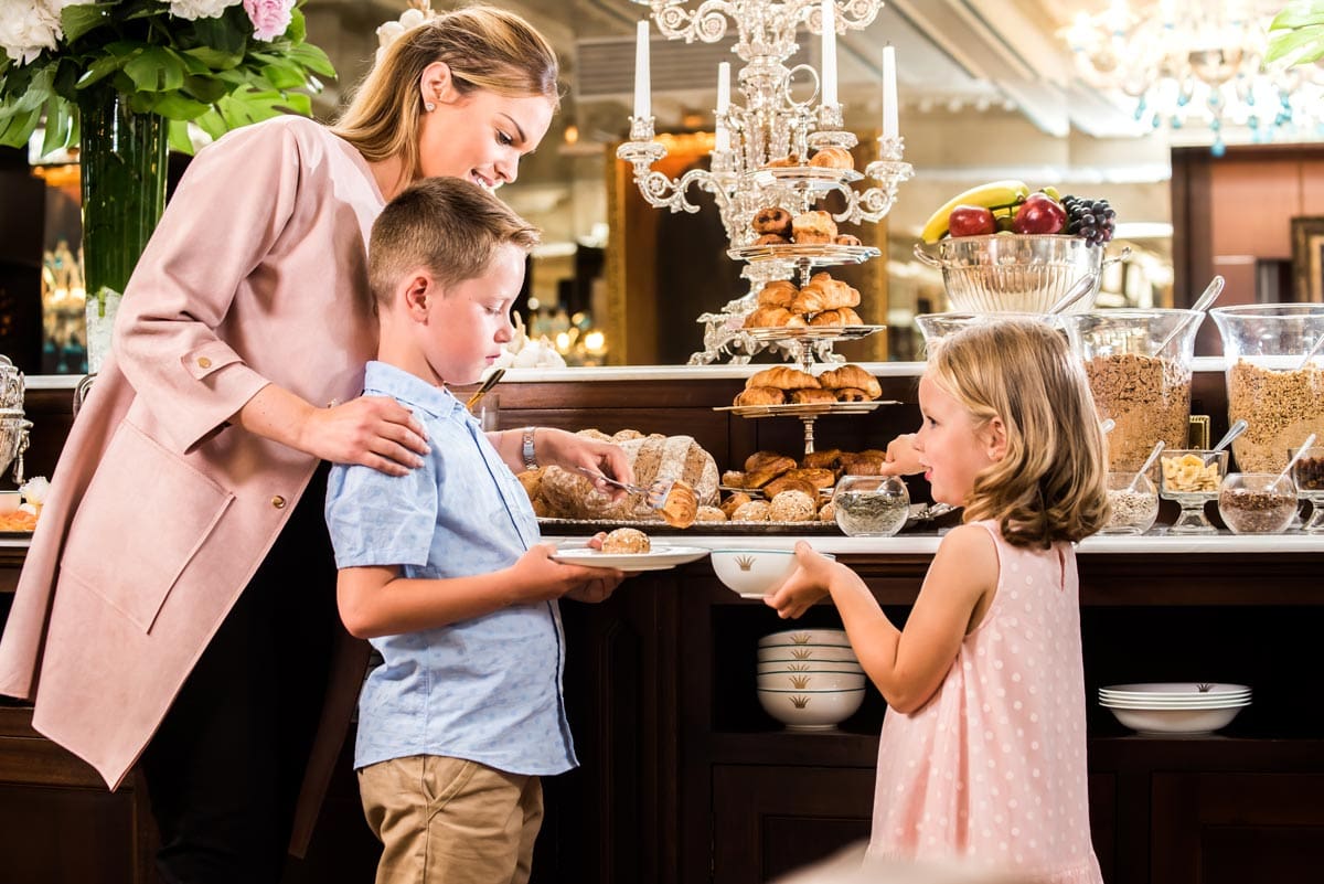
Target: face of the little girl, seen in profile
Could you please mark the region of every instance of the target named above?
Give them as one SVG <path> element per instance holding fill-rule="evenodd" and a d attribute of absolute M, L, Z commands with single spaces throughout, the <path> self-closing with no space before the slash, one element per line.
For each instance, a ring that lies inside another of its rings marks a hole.
<path fill-rule="evenodd" d="M 915 451 L 933 500 L 960 507 L 974 487 L 974 476 L 1002 457 L 996 421 L 976 423 L 928 375 L 919 378 L 919 409 L 924 422 L 915 435 Z"/>

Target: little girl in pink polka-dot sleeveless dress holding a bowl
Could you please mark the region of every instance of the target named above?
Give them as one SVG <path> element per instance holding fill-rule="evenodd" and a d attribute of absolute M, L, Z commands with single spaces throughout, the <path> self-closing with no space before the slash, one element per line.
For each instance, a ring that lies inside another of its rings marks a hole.
<path fill-rule="evenodd" d="M 1047 326 L 988 323 L 931 356 L 919 404 L 915 451 L 965 524 L 943 537 L 904 630 L 808 544 L 768 603 L 800 617 L 830 594 L 891 707 L 871 858 L 1099 884 L 1071 544 L 1104 524 L 1107 491 L 1083 371 Z"/>

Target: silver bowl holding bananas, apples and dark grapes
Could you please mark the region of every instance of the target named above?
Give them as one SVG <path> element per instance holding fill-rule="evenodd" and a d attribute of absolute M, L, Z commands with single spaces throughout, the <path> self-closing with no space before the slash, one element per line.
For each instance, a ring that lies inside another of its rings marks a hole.
<path fill-rule="evenodd" d="M 1078 279 L 1094 285 L 1067 312 L 1094 310 L 1103 267 L 1121 261 L 1103 257 L 1102 246 L 1080 237 L 994 233 L 952 237 L 915 245 L 915 257 L 943 271 L 952 310 L 968 314 L 1043 314 Z"/>

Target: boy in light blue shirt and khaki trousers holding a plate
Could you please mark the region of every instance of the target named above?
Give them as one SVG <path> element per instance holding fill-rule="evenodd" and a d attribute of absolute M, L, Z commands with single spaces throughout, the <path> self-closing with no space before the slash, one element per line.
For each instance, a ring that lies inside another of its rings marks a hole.
<path fill-rule="evenodd" d="M 368 243 L 381 336 L 364 392 L 409 408 L 432 446 L 408 475 L 335 466 L 327 488 L 340 617 L 384 659 L 364 682 L 354 762 L 384 846 L 377 884 L 527 881 L 539 777 L 577 764 L 556 599 L 601 601 L 622 574 L 553 561 L 512 468 L 629 467 L 561 430 L 490 441 L 446 389 L 511 339 L 536 241 L 479 187 L 429 179 L 387 205 Z"/>

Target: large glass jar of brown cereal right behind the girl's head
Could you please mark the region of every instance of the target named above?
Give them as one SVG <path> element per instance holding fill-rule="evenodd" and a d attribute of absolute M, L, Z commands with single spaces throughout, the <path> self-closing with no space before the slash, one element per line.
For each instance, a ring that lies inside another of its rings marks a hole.
<path fill-rule="evenodd" d="M 1201 314 L 1102 310 L 1061 319 L 1084 364 L 1099 420 L 1116 422 L 1108 434 L 1108 468 L 1135 472 L 1158 439 L 1185 449 Z"/>

